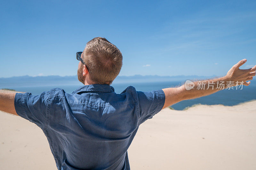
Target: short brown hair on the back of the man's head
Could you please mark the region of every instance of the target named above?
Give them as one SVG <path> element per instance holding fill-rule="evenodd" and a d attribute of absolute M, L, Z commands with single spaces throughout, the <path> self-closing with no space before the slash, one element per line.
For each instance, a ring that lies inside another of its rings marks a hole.
<path fill-rule="evenodd" d="M 123 65 L 120 50 L 107 39 L 96 37 L 86 43 L 83 60 L 90 79 L 97 84 L 111 84 Z"/>

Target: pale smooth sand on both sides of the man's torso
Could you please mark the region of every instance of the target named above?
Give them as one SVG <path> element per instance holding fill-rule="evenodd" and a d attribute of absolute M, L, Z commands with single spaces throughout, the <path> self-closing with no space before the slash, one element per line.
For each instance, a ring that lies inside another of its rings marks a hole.
<path fill-rule="evenodd" d="M 0 124 L 0 169 L 57 169 L 39 127 L 3 112 Z M 128 155 L 131 169 L 254 170 L 256 101 L 166 108 L 140 126 Z"/>

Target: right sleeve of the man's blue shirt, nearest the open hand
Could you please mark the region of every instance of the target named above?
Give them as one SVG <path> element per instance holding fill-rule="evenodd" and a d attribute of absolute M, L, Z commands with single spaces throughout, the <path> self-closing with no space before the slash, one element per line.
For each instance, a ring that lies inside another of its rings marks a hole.
<path fill-rule="evenodd" d="M 140 124 L 151 119 L 164 107 L 165 94 L 162 89 L 148 92 L 137 91 L 140 110 Z"/>

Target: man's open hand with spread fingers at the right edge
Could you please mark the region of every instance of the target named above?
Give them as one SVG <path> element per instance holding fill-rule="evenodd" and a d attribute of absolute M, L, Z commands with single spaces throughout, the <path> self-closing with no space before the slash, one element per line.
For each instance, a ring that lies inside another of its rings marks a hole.
<path fill-rule="evenodd" d="M 243 81 L 243 85 L 249 86 L 251 83 L 249 80 L 252 80 L 252 77 L 255 76 L 256 65 L 249 69 L 239 69 L 245 62 L 246 59 L 243 59 L 230 68 L 226 75 L 229 81 L 234 81 L 235 83 L 238 81 L 239 84 Z"/>

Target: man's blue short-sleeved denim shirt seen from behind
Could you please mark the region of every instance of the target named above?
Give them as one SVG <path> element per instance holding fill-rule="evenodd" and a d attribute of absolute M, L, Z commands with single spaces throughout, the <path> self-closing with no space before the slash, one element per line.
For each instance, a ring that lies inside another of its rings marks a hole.
<path fill-rule="evenodd" d="M 127 149 L 139 125 L 164 106 L 162 89 L 81 86 L 71 94 L 54 88 L 40 95 L 16 93 L 17 114 L 39 126 L 48 139 L 57 168 L 130 169 Z"/>

